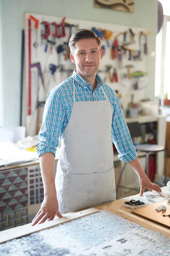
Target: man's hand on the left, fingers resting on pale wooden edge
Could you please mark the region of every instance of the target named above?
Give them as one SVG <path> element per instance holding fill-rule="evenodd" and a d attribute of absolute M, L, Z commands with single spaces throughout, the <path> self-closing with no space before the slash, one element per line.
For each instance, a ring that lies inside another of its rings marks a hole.
<path fill-rule="evenodd" d="M 59 213 L 57 198 L 44 198 L 40 210 L 37 212 L 37 215 L 32 220 L 32 226 L 34 226 L 35 224 L 44 223 L 47 219 L 49 221 L 52 221 L 55 215 L 57 215 L 57 217 L 59 218 L 63 217 Z"/>

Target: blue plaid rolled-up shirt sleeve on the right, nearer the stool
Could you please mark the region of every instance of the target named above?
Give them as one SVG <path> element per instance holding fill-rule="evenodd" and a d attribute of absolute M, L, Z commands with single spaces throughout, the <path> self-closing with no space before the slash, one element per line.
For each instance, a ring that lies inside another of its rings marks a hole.
<path fill-rule="evenodd" d="M 136 149 L 130 137 L 130 132 L 116 94 L 113 108 L 111 137 L 119 153 L 118 157 L 120 160 L 127 163 L 137 158 Z"/>

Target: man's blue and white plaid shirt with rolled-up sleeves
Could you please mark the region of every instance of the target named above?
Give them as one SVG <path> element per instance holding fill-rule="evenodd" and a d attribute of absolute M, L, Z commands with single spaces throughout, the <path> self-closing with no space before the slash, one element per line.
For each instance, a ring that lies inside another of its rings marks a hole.
<path fill-rule="evenodd" d="M 75 83 L 75 100 L 79 101 L 100 101 L 106 100 L 101 85 L 108 97 L 113 110 L 113 121 L 111 138 L 119 152 L 119 159 L 123 162 L 130 162 L 137 158 L 136 149 L 130 137 L 125 118 L 115 91 L 102 82 L 99 75 L 96 75 L 96 89 L 93 91 L 91 85 L 82 78 L 76 71 L 72 77 Z M 54 87 L 47 96 L 42 127 L 40 129 L 40 142 L 37 146 L 37 153 L 52 152 L 55 156 L 59 139 L 64 132 L 71 116 L 73 106 L 73 81 L 69 77 Z"/>

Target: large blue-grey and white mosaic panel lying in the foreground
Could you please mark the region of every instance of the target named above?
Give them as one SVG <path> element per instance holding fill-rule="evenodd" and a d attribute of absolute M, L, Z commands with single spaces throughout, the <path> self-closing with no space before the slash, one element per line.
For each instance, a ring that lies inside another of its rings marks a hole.
<path fill-rule="evenodd" d="M 0 244 L 0 255 L 170 256 L 170 239 L 102 210 Z"/>

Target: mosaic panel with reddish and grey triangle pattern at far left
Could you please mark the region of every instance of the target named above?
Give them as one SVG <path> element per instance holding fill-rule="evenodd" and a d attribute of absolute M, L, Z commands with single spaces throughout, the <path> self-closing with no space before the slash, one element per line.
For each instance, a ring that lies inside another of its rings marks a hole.
<path fill-rule="evenodd" d="M 0 172 L 0 214 L 26 207 L 28 204 L 28 169 Z"/>

